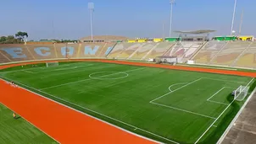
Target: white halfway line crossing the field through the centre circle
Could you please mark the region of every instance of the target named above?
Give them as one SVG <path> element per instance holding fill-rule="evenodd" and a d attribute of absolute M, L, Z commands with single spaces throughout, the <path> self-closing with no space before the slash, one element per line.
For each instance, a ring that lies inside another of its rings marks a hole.
<path fill-rule="evenodd" d="M 136 69 L 133 69 L 133 70 L 130 70 L 130 71 L 125 71 L 125 72 L 133 72 L 133 71 L 138 71 L 138 70 L 142 70 L 142 69 L 145 69 L 145 68 L 147 68 L 147 67 L 136 68 Z M 120 72 L 103 75 L 103 76 L 97 77 L 97 78 L 108 77 L 108 76 L 112 76 L 112 75 L 116 75 L 116 74 L 120 74 Z M 52 87 L 41 88 L 40 90 L 45 90 L 45 89 L 49 89 L 49 88 L 57 88 L 57 87 L 61 87 L 61 86 L 69 85 L 69 84 L 74 84 L 74 83 L 81 83 L 81 82 L 85 82 L 85 81 L 92 80 L 92 79 L 93 78 L 87 78 L 87 79 L 83 79 L 83 80 L 79 80 L 79 81 L 75 81 L 75 82 L 63 83 L 63 84 L 55 85 L 55 86 L 52 86 Z"/>

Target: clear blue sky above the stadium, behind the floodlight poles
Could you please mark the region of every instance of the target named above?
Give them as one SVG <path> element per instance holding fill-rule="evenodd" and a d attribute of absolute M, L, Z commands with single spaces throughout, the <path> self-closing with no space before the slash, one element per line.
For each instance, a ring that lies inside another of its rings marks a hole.
<path fill-rule="evenodd" d="M 94 35 L 169 36 L 169 0 L 3 0 L 0 36 L 19 30 L 27 32 L 29 40 L 89 36 L 88 3 L 95 3 Z M 244 9 L 242 35 L 256 35 L 255 6 L 255 0 L 237 0 L 235 31 Z M 212 36 L 230 35 L 233 8 L 234 0 L 175 0 L 172 29 L 214 29 Z"/>

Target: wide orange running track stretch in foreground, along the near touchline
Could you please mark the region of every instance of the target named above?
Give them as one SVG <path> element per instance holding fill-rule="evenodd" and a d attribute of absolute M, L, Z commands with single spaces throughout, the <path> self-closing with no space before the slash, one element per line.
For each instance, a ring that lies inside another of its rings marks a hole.
<path fill-rule="evenodd" d="M 0 79 L 0 103 L 60 143 L 156 143 Z M 10 114 L 10 116 L 12 116 Z"/>

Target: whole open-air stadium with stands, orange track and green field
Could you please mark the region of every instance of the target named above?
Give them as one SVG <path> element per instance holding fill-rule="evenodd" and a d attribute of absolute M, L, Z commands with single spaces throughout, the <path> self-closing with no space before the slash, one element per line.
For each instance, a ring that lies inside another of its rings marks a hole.
<path fill-rule="evenodd" d="M 254 143 L 255 38 L 214 31 L 0 44 L 0 143 Z"/>

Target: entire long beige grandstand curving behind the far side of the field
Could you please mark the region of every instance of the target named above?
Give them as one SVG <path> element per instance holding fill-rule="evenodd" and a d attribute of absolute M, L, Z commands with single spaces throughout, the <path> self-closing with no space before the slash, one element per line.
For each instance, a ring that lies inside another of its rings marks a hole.
<path fill-rule="evenodd" d="M 175 56 L 179 63 L 193 61 L 199 65 L 256 67 L 253 36 L 217 36 L 209 40 L 208 35 L 212 31 L 177 31 L 181 33 L 179 37 L 164 39 L 129 40 L 123 36 L 96 36 L 95 41 L 80 43 L 2 44 L 0 63 L 83 58 L 147 61 L 158 56 Z M 86 41 L 86 38 L 82 40 Z"/>

